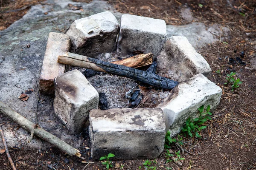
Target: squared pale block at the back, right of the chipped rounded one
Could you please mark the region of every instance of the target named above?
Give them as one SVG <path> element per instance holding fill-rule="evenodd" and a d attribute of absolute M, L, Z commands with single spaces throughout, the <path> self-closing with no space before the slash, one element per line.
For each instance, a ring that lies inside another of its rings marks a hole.
<path fill-rule="evenodd" d="M 117 51 L 124 55 L 133 51 L 157 54 L 161 51 L 166 36 L 164 20 L 123 14 Z"/>

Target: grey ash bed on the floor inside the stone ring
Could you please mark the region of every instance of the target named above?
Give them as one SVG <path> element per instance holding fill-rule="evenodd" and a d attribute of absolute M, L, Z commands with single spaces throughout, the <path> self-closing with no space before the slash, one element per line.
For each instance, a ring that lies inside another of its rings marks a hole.
<path fill-rule="evenodd" d="M 96 59 L 101 59 L 107 62 L 117 61 L 129 56 L 120 57 L 116 53 L 99 54 Z M 84 72 L 85 68 L 72 67 Z M 153 108 L 169 95 L 169 91 L 154 89 L 152 87 L 140 86 L 140 82 L 126 77 L 120 77 L 112 74 L 100 73 L 93 77 L 87 77 L 87 80 L 98 91 L 98 93 L 105 93 L 108 100 L 109 109 L 111 108 L 128 108 L 129 99 L 125 98 L 125 93 L 134 88 L 140 89 L 143 94 L 143 100 L 137 108 Z"/>

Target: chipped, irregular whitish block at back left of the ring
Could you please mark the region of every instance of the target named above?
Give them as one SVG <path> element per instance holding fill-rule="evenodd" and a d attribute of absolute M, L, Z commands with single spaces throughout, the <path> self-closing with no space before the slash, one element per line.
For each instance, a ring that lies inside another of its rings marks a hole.
<path fill-rule="evenodd" d="M 119 29 L 116 17 L 105 11 L 75 20 L 65 34 L 70 36 L 71 52 L 95 57 L 116 49 Z"/>

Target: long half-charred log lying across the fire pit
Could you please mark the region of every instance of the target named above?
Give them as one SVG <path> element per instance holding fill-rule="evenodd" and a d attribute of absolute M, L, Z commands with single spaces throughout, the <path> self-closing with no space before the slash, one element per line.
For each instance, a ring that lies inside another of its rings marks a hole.
<path fill-rule="evenodd" d="M 178 85 L 178 82 L 168 79 L 166 77 L 161 77 L 157 74 L 148 73 L 146 71 L 126 67 L 124 65 L 117 65 L 110 62 L 104 62 L 99 59 L 94 59 L 69 52 L 62 56 L 58 56 L 57 62 L 77 67 L 89 68 L 96 71 L 107 72 L 110 74 L 116 74 L 122 77 L 128 77 L 130 79 L 134 79 L 139 82 L 144 82 L 148 85 L 152 85 L 157 88 L 171 90 L 176 85 Z"/>

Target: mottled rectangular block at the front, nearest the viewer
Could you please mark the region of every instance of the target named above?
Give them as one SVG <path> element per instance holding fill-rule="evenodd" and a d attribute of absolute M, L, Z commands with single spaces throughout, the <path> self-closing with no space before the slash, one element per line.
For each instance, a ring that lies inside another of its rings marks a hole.
<path fill-rule="evenodd" d="M 90 111 L 92 157 L 108 153 L 115 159 L 154 159 L 163 151 L 165 123 L 160 108 Z"/>

